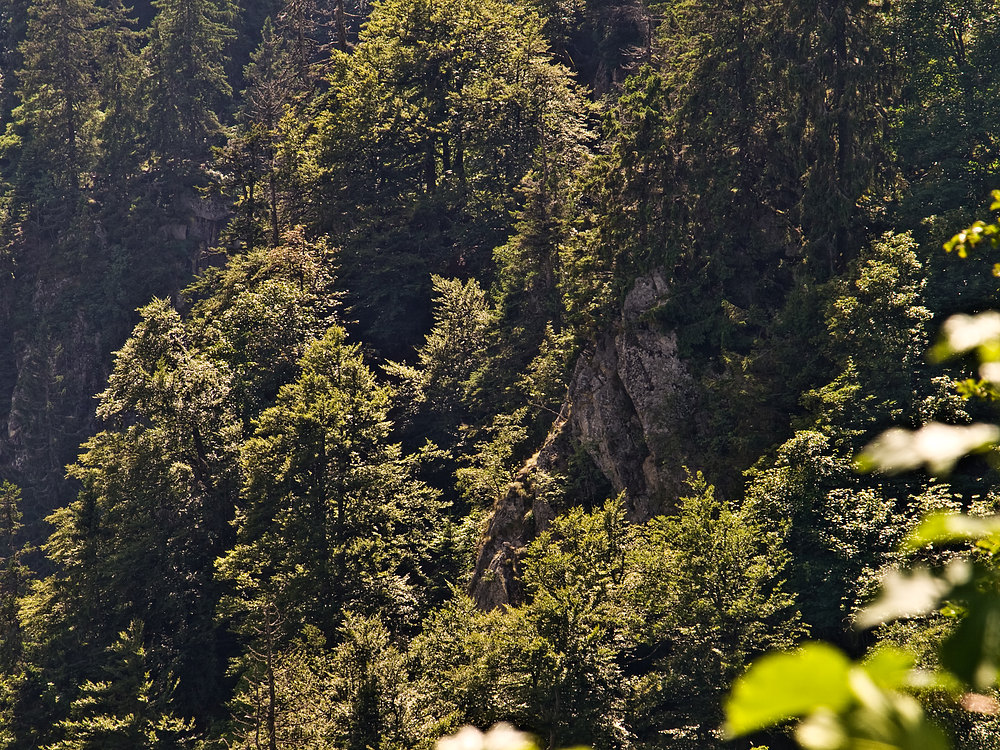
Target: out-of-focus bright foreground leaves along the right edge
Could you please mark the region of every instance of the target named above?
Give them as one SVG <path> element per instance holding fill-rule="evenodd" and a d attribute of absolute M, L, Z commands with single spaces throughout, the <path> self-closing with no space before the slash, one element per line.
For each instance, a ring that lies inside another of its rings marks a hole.
<path fill-rule="evenodd" d="M 980 223 L 973 227 L 982 229 Z M 949 250 L 966 247 L 976 232 L 956 236 Z M 986 236 L 989 236 L 988 234 Z M 977 240 L 978 241 L 978 240 Z M 972 242 L 975 244 L 975 241 Z M 954 320 L 936 347 L 938 357 L 979 349 L 989 373 L 990 345 L 995 338 L 991 318 L 963 316 Z M 866 449 L 863 461 L 870 468 L 898 471 L 926 464 L 932 473 L 950 471 L 956 460 L 984 443 L 996 440 L 994 425 L 952 427 L 929 423 L 916 431 L 895 428 L 883 433 Z M 903 574 L 883 575 L 880 597 L 858 613 L 856 622 L 871 627 L 900 618 L 926 616 L 939 611 L 952 624 L 936 641 L 938 672 L 915 669 L 912 651 L 876 650 L 864 664 L 851 665 L 843 655 L 833 660 L 827 673 L 816 663 L 817 654 L 829 660 L 828 646 L 813 646 L 798 654 L 779 654 L 756 663 L 735 687 L 727 706 L 730 730 L 736 734 L 765 728 L 791 717 L 802 718 L 796 739 L 805 748 L 861 748 L 878 743 L 887 748 L 947 748 L 944 732 L 928 718 L 913 693 L 934 689 L 967 711 L 992 712 L 995 701 L 981 693 L 992 691 L 1000 675 L 995 623 L 997 520 L 952 512 L 930 513 L 902 540 L 904 552 L 923 551 L 931 566 L 914 566 Z M 972 553 L 952 556 L 941 563 L 933 548 L 975 541 Z M 874 667 L 874 668 L 873 668 Z M 793 692 L 776 691 L 774 676 L 782 671 L 797 685 Z M 846 675 L 846 680 L 842 679 Z M 842 687 L 846 682 L 848 700 Z M 832 686 L 832 687 L 831 687 Z M 764 691 L 771 701 L 762 707 Z M 799 700 L 805 698 L 805 700 Z M 773 710 L 770 710 L 773 708 Z"/>

